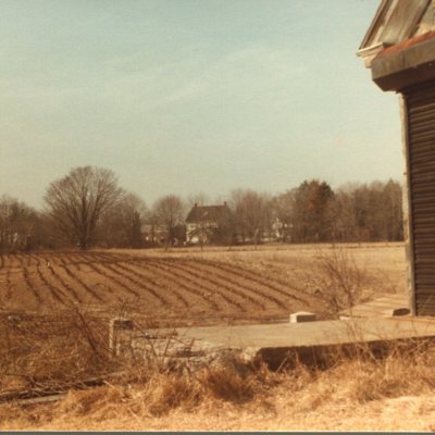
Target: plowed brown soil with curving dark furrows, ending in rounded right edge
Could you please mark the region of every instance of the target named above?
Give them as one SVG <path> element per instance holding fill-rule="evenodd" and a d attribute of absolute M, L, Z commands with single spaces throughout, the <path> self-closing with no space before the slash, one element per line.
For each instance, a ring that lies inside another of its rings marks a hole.
<path fill-rule="evenodd" d="M 3 312 L 80 307 L 215 323 L 284 319 L 314 300 L 283 277 L 228 260 L 99 251 L 1 256 L 0 303 Z"/>

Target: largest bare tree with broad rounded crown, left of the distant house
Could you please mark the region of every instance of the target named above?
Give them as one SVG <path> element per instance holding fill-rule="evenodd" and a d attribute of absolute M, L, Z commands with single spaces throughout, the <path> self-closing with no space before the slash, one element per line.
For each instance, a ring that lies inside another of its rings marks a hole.
<path fill-rule="evenodd" d="M 92 166 L 75 167 L 47 188 L 47 211 L 70 241 L 88 249 L 95 243 L 101 215 L 122 195 L 114 173 Z"/>

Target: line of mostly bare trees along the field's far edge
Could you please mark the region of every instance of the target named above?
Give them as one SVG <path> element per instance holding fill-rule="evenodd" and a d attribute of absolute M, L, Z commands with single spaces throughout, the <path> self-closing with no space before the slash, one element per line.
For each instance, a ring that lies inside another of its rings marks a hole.
<path fill-rule="evenodd" d="M 401 240 L 401 186 L 386 183 L 348 184 L 335 190 L 322 181 L 304 181 L 278 195 L 233 190 L 229 213 L 213 228 L 216 244 L 324 243 Z M 186 241 L 185 219 L 204 195 L 187 200 L 159 198 L 151 208 L 121 188 L 107 169 L 75 167 L 46 189 L 44 209 L 0 198 L 0 250 L 90 247 L 165 247 Z"/>

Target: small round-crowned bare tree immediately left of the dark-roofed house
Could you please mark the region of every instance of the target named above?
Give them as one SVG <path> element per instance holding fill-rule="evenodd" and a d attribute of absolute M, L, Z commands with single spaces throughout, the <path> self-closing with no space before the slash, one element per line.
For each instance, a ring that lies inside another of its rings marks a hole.
<path fill-rule="evenodd" d="M 184 222 L 184 211 L 182 199 L 175 195 L 167 195 L 154 203 L 154 222 L 164 226 L 166 232 L 165 249 L 173 240 L 176 227 Z"/>

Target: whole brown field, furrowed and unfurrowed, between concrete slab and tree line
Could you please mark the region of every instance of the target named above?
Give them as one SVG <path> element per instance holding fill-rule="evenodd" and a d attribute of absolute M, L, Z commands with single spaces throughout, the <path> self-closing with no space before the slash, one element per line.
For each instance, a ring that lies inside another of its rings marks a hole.
<path fill-rule="evenodd" d="M 318 245 L 3 254 L 1 310 L 49 314 L 82 307 L 140 313 L 172 325 L 276 321 L 299 310 L 322 313 L 310 276 L 316 257 L 331 250 L 331 245 Z M 401 245 L 347 245 L 345 250 L 370 275 L 372 294 L 403 290 Z"/>

